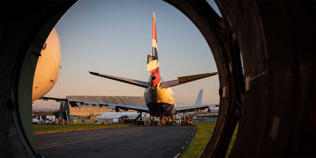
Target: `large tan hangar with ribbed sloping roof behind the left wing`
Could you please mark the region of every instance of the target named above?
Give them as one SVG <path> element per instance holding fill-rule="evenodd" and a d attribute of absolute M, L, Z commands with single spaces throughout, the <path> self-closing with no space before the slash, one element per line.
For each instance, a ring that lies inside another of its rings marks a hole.
<path fill-rule="evenodd" d="M 101 102 L 120 105 L 146 106 L 144 97 L 137 96 L 93 96 L 93 95 L 67 95 L 68 100 L 82 100 L 91 102 Z M 61 101 L 59 107 L 59 117 L 71 122 L 73 119 L 92 119 L 91 117 L 102 112 L 115 112 L 115 110 L 107 109 L 107 106 L 94 106 L 92 104 L 77 103 L 79 107 L 72 107 L 68 101 Z M 134 110 L 128 110 L 133 112 Z M 95 119 L 95 118 L 94 118 Z"/>

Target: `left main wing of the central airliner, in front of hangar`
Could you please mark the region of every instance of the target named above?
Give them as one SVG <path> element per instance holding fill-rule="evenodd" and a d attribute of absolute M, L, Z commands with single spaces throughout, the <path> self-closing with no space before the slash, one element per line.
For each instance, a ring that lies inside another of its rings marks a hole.
<path fill-rule="evenodd" d="M 148 113 L 148 107 L 145 106 L 131 106 L 131 105 L 119 105 L 119 104 L 109 104 L 109 103 L 100 103 L 100 102 L 92 102 L 92 101 L 82 101 L 82 100 L 70 100 L 70 99 L 59 99 L 59 98 L 50 98 L 50 97 L 41 97 L 40 99 L 43 100 L 56 100 L 56 101 L 68 101 L 70 106 L 72 107 L 79 107 L 80 106 L 77 103 L 80 103 L 81 105 L 83 104 L 92 104 L 94 106 L 108 106 L 108 109 L 115 109 L 116 112 L 119 111 L 119 109 L 122 110 L 136 110 L 136 111 L 141 111 L 141 112 L 146 112 Z"/>

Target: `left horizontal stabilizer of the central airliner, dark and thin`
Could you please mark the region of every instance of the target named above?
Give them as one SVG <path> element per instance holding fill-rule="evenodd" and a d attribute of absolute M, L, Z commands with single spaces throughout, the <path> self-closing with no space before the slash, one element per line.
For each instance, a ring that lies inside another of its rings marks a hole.
<path fill-rule="evenodd" d="M 90 71 L 89 71 L 89 73 L 92 75 L 95 75 L 95 76 L 100 76 L 100 77 L 108 78 L 111 80 L 132 84 L 134 86 L 139 86 L 139 87 L 143 87 L 143 88 L 149 87 L 149 82 L 145 82 L 145 81 L 138 81 L 138 80 L 132 80 L 132 79 L 128 79 L 128 78 L 104 75 L 104 74 L 99 74 L 99 73 L 90 72 Z"/>

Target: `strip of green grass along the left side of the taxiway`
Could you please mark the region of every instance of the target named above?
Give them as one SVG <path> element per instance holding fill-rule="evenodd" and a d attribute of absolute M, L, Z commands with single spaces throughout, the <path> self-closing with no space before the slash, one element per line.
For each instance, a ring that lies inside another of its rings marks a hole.
<path fill-rule="evenodd" d="M 128 126 L 123 124 L 33 125 L 34 134 Z"/>

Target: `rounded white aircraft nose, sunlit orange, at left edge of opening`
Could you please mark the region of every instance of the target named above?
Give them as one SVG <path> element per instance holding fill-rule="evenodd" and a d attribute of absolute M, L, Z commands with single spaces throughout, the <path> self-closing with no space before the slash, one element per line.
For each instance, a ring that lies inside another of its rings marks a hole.
<path fill-rule="evenodd" d="M 60 41 L 55 27 L 48 35 L 38 56 L 33 79 L 32 106 L 34 101 L 47 94 L 56 84 L 60 66 Z"/>

